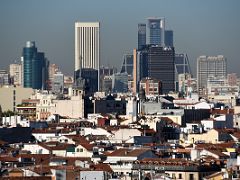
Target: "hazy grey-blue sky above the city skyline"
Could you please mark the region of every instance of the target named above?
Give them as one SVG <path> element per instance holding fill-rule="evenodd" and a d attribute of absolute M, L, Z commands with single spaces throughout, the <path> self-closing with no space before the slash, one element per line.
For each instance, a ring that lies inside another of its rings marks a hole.
<path fill-rule="evenodd" d="M 177 53 L 187 53 L 196 71 L 200 55 L 222 54 L 228 72 L 240 75 L 239 0 L 1 0 L 0 69 L 19 60 L 28 40 L 51 63 L 71 75 L 74 69 L 74 22 L 100 21 L 101 64 L 122 64 L 137 47 L 137 24 L 165 17 L 174 31 Z"/>

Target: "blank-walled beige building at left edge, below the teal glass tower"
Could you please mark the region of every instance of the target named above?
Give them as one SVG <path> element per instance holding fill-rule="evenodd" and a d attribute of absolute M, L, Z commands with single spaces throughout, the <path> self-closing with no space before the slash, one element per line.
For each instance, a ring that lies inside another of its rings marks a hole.
<path fill-rule="evenodd" d="M 28 99 L 33 92 L 32 88 L 23 88 L 20 86 L 0 88 L 0 105 L 2 111 L 16 111 L 16 106 L 21 104 L 23 99 Z"/>

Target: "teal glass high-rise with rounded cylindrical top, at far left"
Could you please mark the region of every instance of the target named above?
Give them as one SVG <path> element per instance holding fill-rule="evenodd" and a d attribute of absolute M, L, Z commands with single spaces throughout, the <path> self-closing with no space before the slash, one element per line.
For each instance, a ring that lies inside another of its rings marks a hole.
<path fill-rule="evenodd" d="M 23 87 L 46 89 L 49 63 L 44 53 L 37 51 L 33 41 L 27 41 L 23 48 L 22 66 Z"/>

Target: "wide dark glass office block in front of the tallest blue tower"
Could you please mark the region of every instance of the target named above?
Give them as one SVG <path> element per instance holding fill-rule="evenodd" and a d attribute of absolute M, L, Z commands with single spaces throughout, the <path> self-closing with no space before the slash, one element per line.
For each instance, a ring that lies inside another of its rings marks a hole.
<path fill-rule="evenodd" d="M 162 82 L 162 93 L 175 90 L 173 47 L 151 46 L 148 50 L 148 77 Z"/>

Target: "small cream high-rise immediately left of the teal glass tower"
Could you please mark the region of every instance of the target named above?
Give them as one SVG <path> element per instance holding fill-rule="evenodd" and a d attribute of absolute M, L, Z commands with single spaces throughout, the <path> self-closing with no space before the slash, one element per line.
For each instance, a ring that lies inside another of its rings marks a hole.
<path fill-rule="evenodd" d="M 9 65 L 10 78 L 12 79 L 12 84 L 16 86 L 22 85 L 22 65 L 21 64 L 10 64 Z"/>

